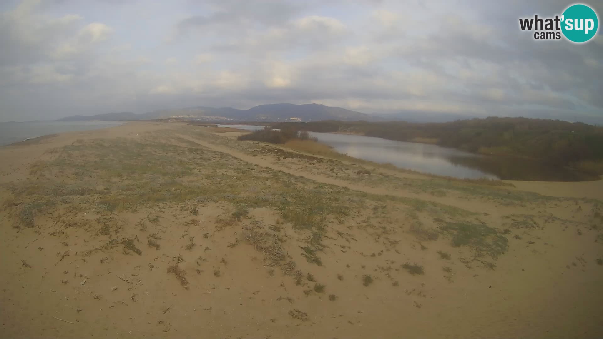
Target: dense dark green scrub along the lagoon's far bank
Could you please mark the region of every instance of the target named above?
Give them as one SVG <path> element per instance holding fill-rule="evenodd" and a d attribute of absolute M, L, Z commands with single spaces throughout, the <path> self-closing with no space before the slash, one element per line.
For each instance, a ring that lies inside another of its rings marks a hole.
<path fill-rule="evenodd" d="M 574 166 L 603 174 L 603 128 L 581 122 L 496 118 L 442 123 L 283 122 L 275 128 L 347 132 L 398 140 L 429 142 L 472 153 L 540 159 L 555 166 Z"/>

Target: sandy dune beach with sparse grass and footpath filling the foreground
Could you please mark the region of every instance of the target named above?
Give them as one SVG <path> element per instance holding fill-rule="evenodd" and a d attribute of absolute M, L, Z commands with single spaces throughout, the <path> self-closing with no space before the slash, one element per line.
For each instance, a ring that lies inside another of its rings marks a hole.
<path fill-rule="evenodd" d="M 603 337 L 601 182 L 234 136 L 136 122 L 0 148 L 0 337 Z"/>

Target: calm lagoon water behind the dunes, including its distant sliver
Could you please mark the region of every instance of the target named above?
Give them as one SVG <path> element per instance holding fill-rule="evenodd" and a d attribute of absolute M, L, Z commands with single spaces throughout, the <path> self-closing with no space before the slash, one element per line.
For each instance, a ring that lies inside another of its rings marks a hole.
<path fill-rule="evenodd" d="M 264 128 L 253 125 L 219 125 L 244 130 Z M 378 163 L 391 163 L 422 173 L 463 179 L 537 181 L 595 180 L 592 176 L 546 163 L 512 157 L 481 156 L 454 148 L 416 142 L 393 141 L 361 135 L 310 133 L 339 153 Z"/>

